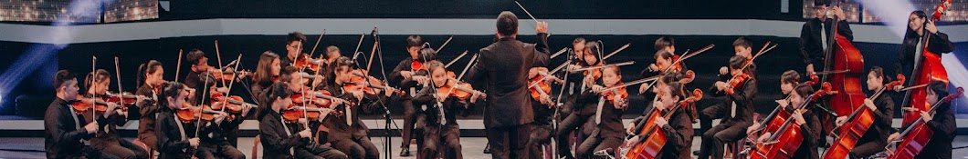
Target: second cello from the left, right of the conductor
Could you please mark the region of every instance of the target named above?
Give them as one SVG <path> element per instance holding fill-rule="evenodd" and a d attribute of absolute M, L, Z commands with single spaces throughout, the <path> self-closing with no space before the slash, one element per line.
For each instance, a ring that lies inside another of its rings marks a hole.
<path fill-rule="evenodd" d="M 811 102 L 817 100 L 821 95 L 835 93 L 831 89 L 830 83 L 824 83 L 823 90 L 817 91 L 816 93 L 810 94 L 806 101 L 797 107 L 797 110 L 803 110 Z M 751 159 L 765 159 L 765 158 L 791 158 L 797 149 L 800 148 L 803 143 L 803 136 L 799 123 L 795 123 L 796 119 L 787 119 L 783 122 L 783 125 L 773 133 L 770 138 L 764 143 L 756 144 L 755 155 L 750 155 Z M 779 142 L 783 141 L 783 142 Z"/>

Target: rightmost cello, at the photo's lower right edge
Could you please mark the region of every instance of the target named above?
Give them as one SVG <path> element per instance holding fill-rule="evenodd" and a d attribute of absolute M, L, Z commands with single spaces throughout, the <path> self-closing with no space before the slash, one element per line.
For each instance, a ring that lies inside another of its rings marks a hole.
<path fill-rule="evenodd" d="M 934 103 L 934 105 L 932 105 L 931 109 L 928 111 L 928 114 L 934 116 L 934 112 L 937 111 L 938 105 L 951 102 L 954 98 L 960 97 L 963 93 L 964 89 L 957 88 L 954 93 L 949 94 L 941 100 L 938 100 L 937 103 Z M 934 130 L 931 130 L 930 127 L 927 127 L 927 123 L 923 118 L 918 118 L 911 123 L 911 126 L 908 126 L 907 129 L 904 129 L 904 131 L 900 133 L 900 136 L 900 144 L 897 145 L 897 147 L 894 147 L 894 149 L 888 148 L 889 151 L 893 152 L 890 156 L 888 156 L 888 159 L 915 158 L 915 156 L 918 156 L 918 153 L 921 153 L 924 146 L 927 145 L 927 142 L 931 141 L 931 136 L 934 136 Z"/>

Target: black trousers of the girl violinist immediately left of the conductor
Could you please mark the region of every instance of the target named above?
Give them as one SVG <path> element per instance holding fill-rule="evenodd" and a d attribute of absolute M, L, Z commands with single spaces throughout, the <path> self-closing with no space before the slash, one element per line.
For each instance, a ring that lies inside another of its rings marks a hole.
<path fill-rule="evenodd" d="M 446 125 L 427 125 L 424 127 L 424 147 L 420 153 L 425 159 L 448 158 L 463 159 L 461 154 L 461 128 L 456 123 Z M 445 150 L 444 156 L 438 156 Z"/>

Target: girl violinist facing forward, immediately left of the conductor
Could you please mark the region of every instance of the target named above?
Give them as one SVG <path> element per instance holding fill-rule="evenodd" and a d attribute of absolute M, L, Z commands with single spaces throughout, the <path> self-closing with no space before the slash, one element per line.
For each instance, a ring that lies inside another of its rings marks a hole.
<path fill-rule="evenodd" d="M 431 83 L 434 87 L 422 89 L 420 93 L 413 97 L 414 104 L 430 107 L 425 111 L 427 123 L 424 126 L 424 146 L 420 149 L 420 152 L 424 158 L 428 159 L 464 158 L 461 154 L 461 131 L 460 125 L 457 124 L 457 113 L 469 109 L 480 98 L 481 93 L 474 92 L 466 99 L 461 99 L 447 93 L 456 93 L 458 92 L 456 89 L 443 92 L 441 88 L 461 86 L 456 84 L 458 81 L 447 75 L 447 69 L 439 61 L 431 61 L 427 65 L 427 68 L 433 72 L 430 78 L 433 80 Z M 440 123 L 440 110 L 443 110 L 442 117 L 446 120 L 446 123 Z M 443 151 L 445 156 L 437 156 L 439 150 L 442 150 L 441 148 L 446 149 L 446 151 Z"/>

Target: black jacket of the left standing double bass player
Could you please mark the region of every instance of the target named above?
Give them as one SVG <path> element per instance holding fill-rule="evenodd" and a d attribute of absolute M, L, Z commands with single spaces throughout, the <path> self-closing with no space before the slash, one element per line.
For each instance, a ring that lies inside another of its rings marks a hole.
<path fill-rule="evenodd" d="M 800 55 L 803 59 L 803 66 L 813 64 L 814 70 L 821 71 L 824 69 L 824 56 L 826 55 L 824 54 L 824 44 L 827 43 L 823 43 L 820 32 L 823 30 L 827 33 L 827 38 L 830 39 L 832 25 L 833 20 L 828 19 L 821 22 L 819 18 L 812 18 L 803 23 L 800 31 Z M 847 21 L 841 20 L 837 23 L 837 35 L 854 41 L 854 31 L 851 31 Z M 827 42 L 831 41 L 828 40 Z"/>

